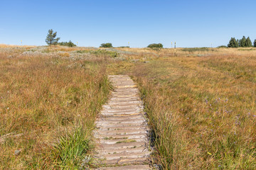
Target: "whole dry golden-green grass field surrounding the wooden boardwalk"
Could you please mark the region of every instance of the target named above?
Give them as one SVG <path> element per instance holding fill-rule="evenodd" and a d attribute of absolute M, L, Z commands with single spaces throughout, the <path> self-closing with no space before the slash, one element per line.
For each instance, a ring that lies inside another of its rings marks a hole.
<path fill-rule="evenodd" d="M 0 49 L 1 169 L 92 167 L 107 74 L 139 85 L 163 169 L 256 169 L 255 48 Z"/>

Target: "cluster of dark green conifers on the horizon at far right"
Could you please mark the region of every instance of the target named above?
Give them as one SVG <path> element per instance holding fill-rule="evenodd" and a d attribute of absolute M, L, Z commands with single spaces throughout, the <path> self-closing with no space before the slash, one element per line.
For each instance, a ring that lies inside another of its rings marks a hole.
<path fill-rule="evenodd" d="M 256 40 L 253 42 L 253 46 L 256 47 Z M 245 36 L 242 36 L 240 40 L 231 38 L 228 47 L 252 47 L 252 41 L 249 37 L 245 38 Z"/>

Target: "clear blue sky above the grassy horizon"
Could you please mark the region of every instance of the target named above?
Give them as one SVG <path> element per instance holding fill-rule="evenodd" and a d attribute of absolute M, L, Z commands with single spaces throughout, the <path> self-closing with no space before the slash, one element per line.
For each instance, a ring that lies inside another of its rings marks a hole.
<path fill-rule="evenodd" d="M 49 29 L 79 46 L 227 45 L 256 39 L 255 0 L 1 0 L 0 44 L 46 45 Z"/>

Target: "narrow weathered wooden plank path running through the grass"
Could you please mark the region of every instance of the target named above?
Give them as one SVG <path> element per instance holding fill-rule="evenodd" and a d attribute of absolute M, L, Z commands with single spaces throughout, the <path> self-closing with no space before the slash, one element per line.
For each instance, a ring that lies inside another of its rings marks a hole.
<path fill-rule="evenodd" d="M 97 119 L 100 169 L 151 169 L 149 128 L 139 90 L 128 76 L 109 76 L 114 91 Z"/>

